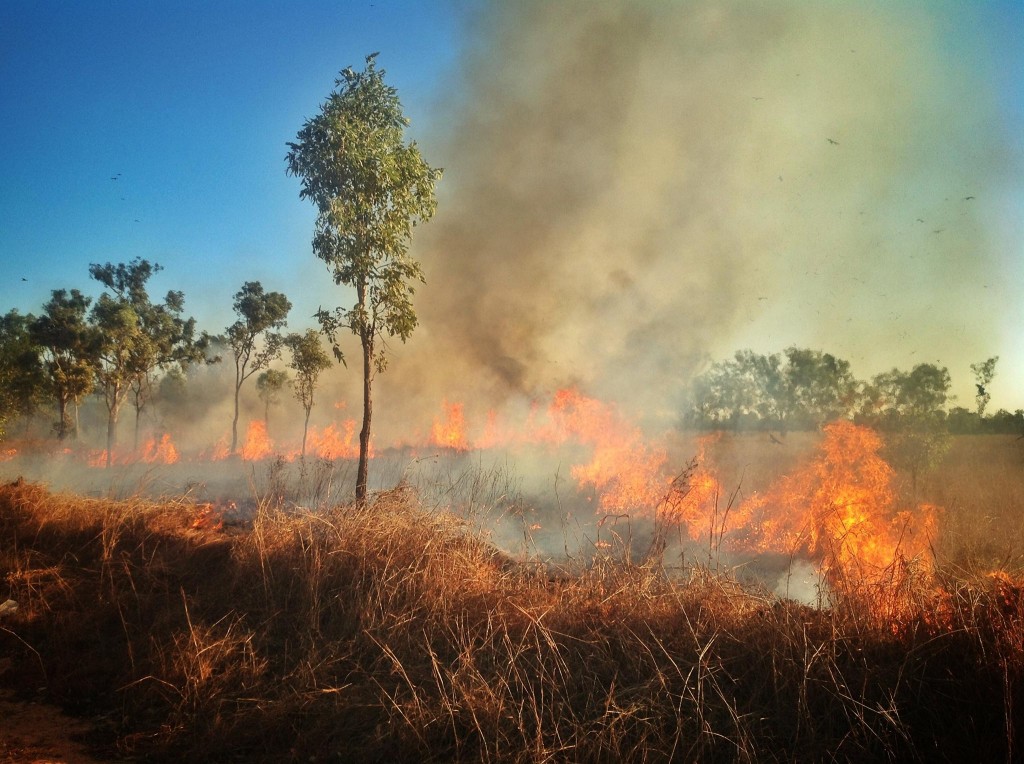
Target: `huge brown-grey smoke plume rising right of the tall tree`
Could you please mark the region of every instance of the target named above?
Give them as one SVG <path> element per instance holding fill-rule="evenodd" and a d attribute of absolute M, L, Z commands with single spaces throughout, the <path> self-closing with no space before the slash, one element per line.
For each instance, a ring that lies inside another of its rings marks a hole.
<path fill-rule="evenodd" d="M 667 417 L 740 347 L 991 354 L 1007 158 L 942 7 L 488 5 L 422 141 L 445 175 L 387 407 L 579 384 Z"/>

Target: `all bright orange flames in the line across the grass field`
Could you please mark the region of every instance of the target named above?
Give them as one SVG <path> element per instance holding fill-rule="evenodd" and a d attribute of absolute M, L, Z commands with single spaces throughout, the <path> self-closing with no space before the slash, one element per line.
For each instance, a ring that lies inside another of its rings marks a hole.
<path fill-rule="evenodd" d="M 334 408 L 340 412 L 345 407 Z M 727 551 L 799 555 L 815 562 L 839 593 L 931 574 L 930 542 L 938 510 L 900 505 L 895 473 L 880 456 L 880 436 L 851 422 L 827 425 L 816 452 L 801 467 L 735 504 L 738 491 L 730 495 L 723 490 L 709 458 L 717 436 L 701 439 L 693 464 L 673 479 L 664 444 L 648 440 L 614 406 L 575 388 L 558 390 L 546 407 L 534 401 L 517 423 L 489 412 L 479 436 L 473 438 L 471 431 L 464 405 L 444 400 L 424 440 L 458 452 L 567 449 L 570 475 L 589 494 L 595 511 L 656 516 L 679 523 L 693 542 L 713 539 Z M 356 457 L 355 420 L 310 427 L 306 447 L 307 455 L 323 459 Z M 295 460 L 300 450 L 294 442 L 275 445 L 265 422 L 253 420 L 240 454 L 247 461 L 273 456 Z M 15 455 L 9 449 L 0 452 L 0 459 Z M 226 457 L 223 440 L 198 458 Z M 105 452 L 92 452 L 89 463 L 102 466 L 105 458 Z M 164 433 L 146 441 L 138 455 L 117 454 L 114 461 L 172 464 L 179 459 L 170 434 Z"/>

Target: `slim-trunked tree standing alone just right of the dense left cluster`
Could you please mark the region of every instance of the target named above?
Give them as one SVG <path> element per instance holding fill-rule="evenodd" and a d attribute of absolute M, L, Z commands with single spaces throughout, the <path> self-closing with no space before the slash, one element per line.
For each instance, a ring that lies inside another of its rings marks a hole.
<path fill-rule="evenodd" d="M 231 454 L 239 447 L 239 397 L 243 383 L 256 372 L 281 357 L 283 339 L 272 330 L 282 329 L 292 303 L 281 292 L 265 292 L 259 282 L 246 282 L 234 294 L 233 309 L 239 320 L 226 330 L 227 344 L 234 357 L 234 418 L 231 420 Z M 262 340 L 262 345 L 257 342 Z"/>

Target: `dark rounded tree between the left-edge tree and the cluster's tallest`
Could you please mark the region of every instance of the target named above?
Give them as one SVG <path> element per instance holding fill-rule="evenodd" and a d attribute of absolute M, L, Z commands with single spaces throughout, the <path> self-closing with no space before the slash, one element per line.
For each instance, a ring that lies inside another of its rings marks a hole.
<path fill-rule="evenodd" d="M 42 352 L 45 386 L 56 402 L 55 429 L 61 440 L 74 431 L 68 407 L 92 389 L 98 363 L 99 336 L 87 322 L 91 302 L 77 289 L 55 289 L 29 325 L 32 341 Z"/>

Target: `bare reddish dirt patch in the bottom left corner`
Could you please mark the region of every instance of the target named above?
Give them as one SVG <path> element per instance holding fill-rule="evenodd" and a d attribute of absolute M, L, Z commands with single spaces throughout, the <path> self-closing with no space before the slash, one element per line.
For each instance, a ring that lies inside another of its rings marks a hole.
<path fill-rule="evenodd" d="M 101 764 L 76 738 L 89 731 L 60 709 L 0 690 L 0 764 Z"/>

